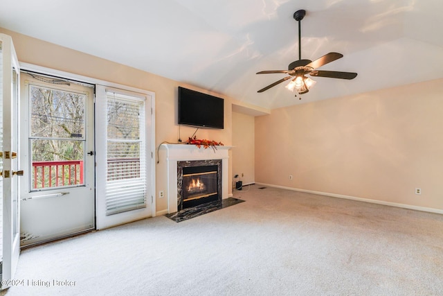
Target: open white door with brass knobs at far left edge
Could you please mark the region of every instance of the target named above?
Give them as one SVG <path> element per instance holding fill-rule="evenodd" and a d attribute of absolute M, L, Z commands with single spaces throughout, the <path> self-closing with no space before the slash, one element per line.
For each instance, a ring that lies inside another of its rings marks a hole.
<path fill-rule="evenodd" d="M 19 62 L 12 39 L 0 34 L 0 191 L 3 195 L 1 289 L 12 286 L 20 252 L 19 239 Z"/>

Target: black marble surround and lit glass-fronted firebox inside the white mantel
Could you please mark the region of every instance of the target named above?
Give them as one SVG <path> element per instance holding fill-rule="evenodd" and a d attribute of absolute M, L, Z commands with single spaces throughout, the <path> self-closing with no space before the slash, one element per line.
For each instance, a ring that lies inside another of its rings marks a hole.
<path fill-rule="evenodd" d="M 179 162 L 178 209 L 221 200 L 221 161 Z"/>

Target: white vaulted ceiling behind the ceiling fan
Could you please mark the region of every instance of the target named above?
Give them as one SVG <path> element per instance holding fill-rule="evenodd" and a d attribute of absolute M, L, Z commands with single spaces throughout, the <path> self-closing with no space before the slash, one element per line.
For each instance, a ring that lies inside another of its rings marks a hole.
<path fill-rule="evenodd" d="M 298 60 L 354 80 L 314 78 L 299 101 L 283 82 Z M 0 27 L 273 109 L 443 78 L 442 0 L 2 0 Z"/>

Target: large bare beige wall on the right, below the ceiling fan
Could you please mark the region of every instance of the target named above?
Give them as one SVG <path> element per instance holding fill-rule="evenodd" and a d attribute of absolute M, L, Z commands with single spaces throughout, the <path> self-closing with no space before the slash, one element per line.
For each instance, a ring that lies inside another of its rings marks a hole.
<path fill-rule="evenodd" d="M 442 94 L 440 79 L 256 117 L 255 182 L 443 209 Z"/>

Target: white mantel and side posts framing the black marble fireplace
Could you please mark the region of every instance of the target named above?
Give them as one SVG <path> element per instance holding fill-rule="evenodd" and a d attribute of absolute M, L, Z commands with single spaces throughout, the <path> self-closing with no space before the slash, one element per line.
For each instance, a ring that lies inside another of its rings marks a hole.
<path fill-rule="evenodd" d="M 165 165 L 167 174 L 166 194 L 168 198 L 168 214 L 174 213 L 178 209 L 179 190 L 177 186 L 177 162 L 186 161 L 208 161 L 221 159 L 221 198 L 228 198 L 228 150 L 231 146 L 217 146 L 213 148 L 197 148 L 188 144 L 162 144 L 161 150 L 165 150 Z M 197 162 L 199 164 L 201 162 Z"/>

